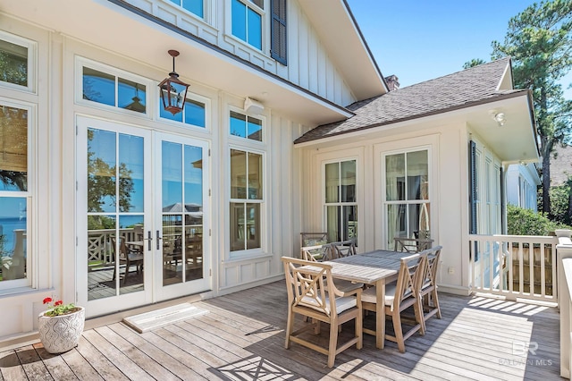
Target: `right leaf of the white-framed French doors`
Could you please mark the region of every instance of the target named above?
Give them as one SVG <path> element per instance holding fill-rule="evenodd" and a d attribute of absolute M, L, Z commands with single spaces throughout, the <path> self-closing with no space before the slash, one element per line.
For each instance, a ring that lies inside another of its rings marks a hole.
<path fill-rule="evenodd" d="M 205 279 L 205 157 L 206 143 L 157 134 L 161 147 L 160 231 L 162 275 L 159 298 L 189 294 L 208 288 Z"/>

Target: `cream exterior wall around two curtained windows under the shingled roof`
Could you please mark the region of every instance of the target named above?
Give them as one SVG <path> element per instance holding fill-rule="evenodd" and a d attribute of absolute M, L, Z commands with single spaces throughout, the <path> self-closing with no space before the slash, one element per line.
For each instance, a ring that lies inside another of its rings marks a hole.
<path fill-rule="evenodd" d="M 324 161 L 357 159 L 358 251 L 386 249 L 383 221 L 382 159 L 384 153 L 399 153 L 410 148 L 430 152 L 431 238 L 443 246 L 438 283 L 442 290 L 468 292 L 468 140 L 466 123 L 446 120 L 427 123 L 408 122 L 379 130 L 361 131 L 357 139 L 324 142 L 319 146 L 296 148 L 301 163 L 299 183 L 306 193 L 301 205 L 299 232 L 325 231 L 323 194 Z M 327 146 L 327 147 L 326 147 Z M 499 160 L 490 151 L 497 168 Z M 498 185 L 498 184 L 497 184 Z M 490 184 L 489 186 L 495 186 Z M 483 212 L 482 214 L 485 214 Z M 500 219 L 499 216 L 492 216 Z M 487 223 L 484 229 L 490 230 Z M 500 228 L 500 226 L 498 226 Z M 296 232 L 297 234 L 299 232 Z M 299 244 L 298 244 L 299 246 Z"/>

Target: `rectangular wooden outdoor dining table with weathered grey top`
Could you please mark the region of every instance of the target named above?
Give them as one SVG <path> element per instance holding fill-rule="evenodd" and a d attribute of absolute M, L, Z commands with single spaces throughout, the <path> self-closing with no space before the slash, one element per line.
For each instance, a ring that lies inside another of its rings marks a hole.
<path fill-rule="evenodd" d="M 324 261 L 332 265 L 332 277 L 351 282 L 372 284 L 375 296 L 375 347 L 385 344 L 385 284 L 397 279 L 400 259 L 411 255 L 407 252 L 374 250 L 344 258 Z"/>

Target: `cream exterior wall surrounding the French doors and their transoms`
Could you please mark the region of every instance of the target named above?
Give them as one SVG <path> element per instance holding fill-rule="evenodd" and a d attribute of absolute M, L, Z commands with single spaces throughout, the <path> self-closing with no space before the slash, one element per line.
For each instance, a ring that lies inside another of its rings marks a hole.
<path fill-rule="evenodd" d="M 1 16 L 1 15 L 0 15 Z M 146 130 L 161 130 L 205 140 L 211 148 L 210 178 L 212 229 L 206 255 L 211 256 L 211 295 L 238 291 L 282 277 L 282 255 L 294 252 L 292 225 L 297 212 L 293 196 L 293 145 L 295 136 L 307 131 L 307 126 L 294 122 L 295 115 L 273 114 L 266 108 L 265 146 L 265 212 L 268 219 L 263 229 L 265 254 L 251 258 L 230 258 L 229 253 L 229 107 L 241 108 L 244 99 L 226 94 L 204 83 L 191 83 L 195 94 L 208 99 L 205 131 L 189 131 L 179 125 L 161 123 L 153 118 L 132 116 L 119 110 L 75 101 L 80 89 L 77 58 L 105 63 L 114 69 L 143 78 L 162 79 L 157 71 L 128 57 L 84 44 L 58 33 L 31 27 L 29 24 L 2 16 L 2 29 L 38 43 L 38 86 L 35 93 L 21 94 L 18 90 L 1 89 L 0 99 L 20 97 L 33 107 L 30 138 L 33 144 L 29 183 L 33 204 L 29 208 L 31 232 L 28 232 L 28 255 L 33 258 L 29 268 L 30 287 L 0 290 L 0 345 L 37 329 L 38 313 L 45 309 L 46 297 L 76 301 L 80 291 L 77 258 L 85 255 L 76 249 L 78 211 L 75 206 L 78 152 L 76 120 L 79 116 L 124 123 Z M 156 83 L 155 83 L 156 86 Z M 150 87 L 148 91 L 155 91 Z M 158 95 L 158 91 L 157 94 Z M 156 99 L 156 96 L 152 99 Z M 147 105 L 155 109 L 154 105 Z M 156 111 L 151 111 L 151 115 Z M 206 274 L 205 276 L 208 276 Z M 89 312 L 88 312 L 89 314 Z"/>

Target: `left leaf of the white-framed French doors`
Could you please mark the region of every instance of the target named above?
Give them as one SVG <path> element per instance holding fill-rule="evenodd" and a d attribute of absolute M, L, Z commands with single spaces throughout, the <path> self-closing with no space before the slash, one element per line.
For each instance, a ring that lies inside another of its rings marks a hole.
<path fill-rule="evenodd" d="M 151 301 L 144 244 L 150 138 L 142 129 L 78 118 L 78 302 L 88 303 L 88 316 Z"/>

